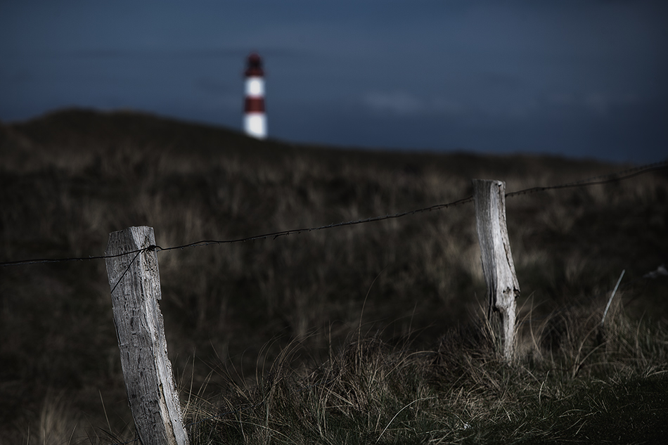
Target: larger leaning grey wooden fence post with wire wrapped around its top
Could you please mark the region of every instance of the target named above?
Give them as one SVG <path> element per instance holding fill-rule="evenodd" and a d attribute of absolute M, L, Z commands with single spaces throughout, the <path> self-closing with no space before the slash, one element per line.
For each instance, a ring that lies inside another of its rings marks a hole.
<path fill-rule="evenodd" d="M 152 245 L 152 227 L 129 227 L 109 234 L 105 255 Z M 139 439 L 143 445 L 188 445 L 158 306 L 158 255 L 145 250 L 107 258 L 106 264 L 125 389 Z"/>

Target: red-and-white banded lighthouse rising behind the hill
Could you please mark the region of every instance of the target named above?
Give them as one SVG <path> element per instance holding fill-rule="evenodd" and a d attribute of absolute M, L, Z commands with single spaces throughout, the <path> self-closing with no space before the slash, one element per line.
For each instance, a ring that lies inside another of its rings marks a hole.
<path fill-rule="evenodd" d="M 266 114 L 264 113 L 264 71 L 262 59 L 257 53 L 248 56 L 246 98 L 243 115 L 243 129 L 248 136 L 266 138 Z"/>

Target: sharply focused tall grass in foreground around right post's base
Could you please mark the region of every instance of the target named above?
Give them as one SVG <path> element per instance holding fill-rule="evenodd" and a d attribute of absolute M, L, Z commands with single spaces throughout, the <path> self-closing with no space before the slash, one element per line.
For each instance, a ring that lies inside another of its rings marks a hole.
<path fill-rule="evenodd" d="M 293 366 L 299 344 L 256 380 L 233 375 L 186 410 L 193 444 L 660 443 L 668 432 L 664 325 L 600 309 L 547 318 L 512 363 L 489 323 L 432 349 L 352 335 L 324 361 Z M 558 325 L 559 328 L 554 326 Z M 557 329 L 558 333 L 554 330 Z M 558 335 L 558 340 L 555 340 Z M 307 352 L 306 352 L 307 353 Z"/>

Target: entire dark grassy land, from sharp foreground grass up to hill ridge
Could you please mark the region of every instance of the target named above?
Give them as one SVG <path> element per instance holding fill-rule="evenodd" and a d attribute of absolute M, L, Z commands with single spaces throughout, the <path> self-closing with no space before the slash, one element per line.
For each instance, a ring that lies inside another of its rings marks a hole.
<path fill-rule="evenodd" d="M 472 193 L 473 178 L 517 191 L 627 167 L 297 146 L 135 112 L 63 110 L 0 123 L 0 262 L 99 255 L 127 226 L 152 226 L 169 247 L 451 202 Z M 509 197 L 507 212 L 522 290 L 514 367 L 496 358 L 480 321 L 470 204 L 160 252 L 188 421 L 219 415 L 193 425 L 195 443 L 660 437 L 668 292 L 665 278 L 643 276 L 668 263 L 667 171 Z M 622 269 L 615 329 L 600 333 Z M 132 439 L 103 262 L 0 267 L 0 298 L 0 443 Z"/>

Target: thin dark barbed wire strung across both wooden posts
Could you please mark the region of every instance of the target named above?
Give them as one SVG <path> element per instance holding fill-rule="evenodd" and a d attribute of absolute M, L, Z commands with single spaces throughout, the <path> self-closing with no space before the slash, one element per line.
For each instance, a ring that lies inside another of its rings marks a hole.
<path fill-rule="evenodd" d="M 660 169 L 666 169 L 668 168 L 668 160 L 667 161 L 662 161 L 662 162 L 654 162 L 653 164 L 648 164 L 648 165 L 641 165 L 639 167 L 634 167 L 631 169 L 625 169 L 620 172 L 614 172 L 614 173 L 609 173 L 609 174 L 604 174 L 600 176 L 593 176 L 588 179 L 581 179 L 579 181 L 571 182 L 571 183 L 563 183 L 563 184 L 558 184 L 555 186 L 539 186 L 539 187 L 531 187 L 531 188 L 525 188 L 524 190 L 520 191 L 515 191 L 515 192 L 510 192 L 506 193 L 506 197 L 513 197 L 516 195 L 526 195 L 526 194 L 531 194 L 531 193 L 538 193 L 538 192 L 544 192 L 548 190 L 556 190 L 556 189 L 563 189 L 563 188 L 575 188 L 575 187 L 587 187 L 587 186 L 594 186 L 594 185 L 600 185 L 600 184 L 605 184 L 605 183 L 612 183 L 612 182 L 617 182 L 617 181 L 623 181 L 624 179 L 629 179 L 634 176 L 638 176 L 641 174 L 645 174 L 648 172 L 653 172 L 656 170 Z M 604 180 L 601 180 L 603 178 L 607 178 Z M 290 230 L 285 230 L 285 231 L 276 231 L 276 232 L 271 232 L 271 233 L 264 233 L 262 235 L 255 235 L 255 236 L 248 236 L 244 238 L 235 238 L 231 240 L 200 240 L 200 241 L 195 241 L 195 243 L 188 243 L 184 245 L 178 245 L 178 246 L 172 246 L 172 247 L 160 247 L 158 245 L 150 245 L 148 247 L 143 247 L 142 249 L 137 249 L 137 250 L 131 250 L 129 252 L 123 252 L 120 254 L 113 254 L 113 255 L 98 255 L 98 256 L 91 256 L 91 257 L 68 257 L 68 258 L 43 258 L 43 259 L 23 259 L 23 260 L 18 260 L 18 261 L 12 261 L 12 262 L 0 262 L 0 266 L 25 266 L 29 264 L 48 264 L 48 263 L 61 263 L 61 262 L 81 262 L 81 261 L 91 261 L 91 260 L 96 260 L 96 259 L 108 259 L 108 258 L 117 258 L 117 257 L 122 257 L 125 255 L 129 254 L 140 254 L 141 252 L 147 252 L 147 251 L 169 251 L 169 250 L 183 250 L 188 247 L 203 247 L 206 245 L 220 245 L 220 244 L 233 244 L 233 243 L 245 243 L 248 241 L 255 241 L 255 240 L 264 240 L 267 238 L 272 238 L 276 239 L 281 236 L 289 236 L 289 235 L 298 235 L 300 233 L 304 232 L 312 232 L 312 231 L 321 231 L 321 230 L 327 230 L 330 228 L 338 228 L 338 227 L 345 227 L 345 226 L 356 226 L 358 224 L 366 224 L 366 223 L 371 223 L 371 222 L 377 222 L 377 221 L 384 221 L 386 219 L 396 219 L 396 218 L 401 218 L 401 217 L 406 217 L 411 214 L 418 214 L 418 213 L 423 213 L 423 212 L 432 212 L 435 210 L 440 210 L 440 209 L 447 209 L 449 207 L 454 207 L 457 205 L 463 205 L 468 202 L 473 202 L 473 195 L 470 195 L 466 198 L 461 198 L 456 201 L 452 202 L 447 202 L 445 204 L 436 204 L 432 205 L 430 207 L 423 207 L 421 209 L 413 209 L 409 210 L 407 212 L 399 212 L 395 214 L 385 214 L 383 216 L 378 216 L 378 217 L 370 217 L 366 219 L 357 219 L 355 221 L 344 221 L 340 223 L 333 223 L 333 224 L 327 224 L 324 226 L 316 226 L 316 227 L 308 227 L 308 228 L 294 228 Z"/>

